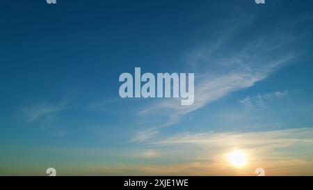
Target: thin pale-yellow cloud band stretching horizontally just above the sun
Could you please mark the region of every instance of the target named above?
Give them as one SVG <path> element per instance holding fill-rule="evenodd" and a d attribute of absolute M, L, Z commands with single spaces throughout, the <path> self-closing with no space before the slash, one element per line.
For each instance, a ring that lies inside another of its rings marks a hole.
<path fill-rule="evenodd" d="M 238 147 L 243 149 L 273 150 L 294 143 L 305 142 L 313 145 L 313 128 L 280 129 L 265 132 L 220 132 L 180 133 L 168 138 L 152 141 L 151 145 L 204 145 L 208 148 Z M 313 148 L 313 146 L 312 146 Z"/>

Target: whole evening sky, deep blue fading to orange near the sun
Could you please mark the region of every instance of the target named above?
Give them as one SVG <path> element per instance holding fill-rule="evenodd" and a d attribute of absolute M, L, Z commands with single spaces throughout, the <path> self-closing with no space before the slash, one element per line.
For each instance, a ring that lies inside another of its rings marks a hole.
<path fill-rule="evenodd" d="M 312 8 L 1 2 L 0 175 L 313 175 Z M 136 67 L 194 73 L 195 102 L 121 98 Z"/>

